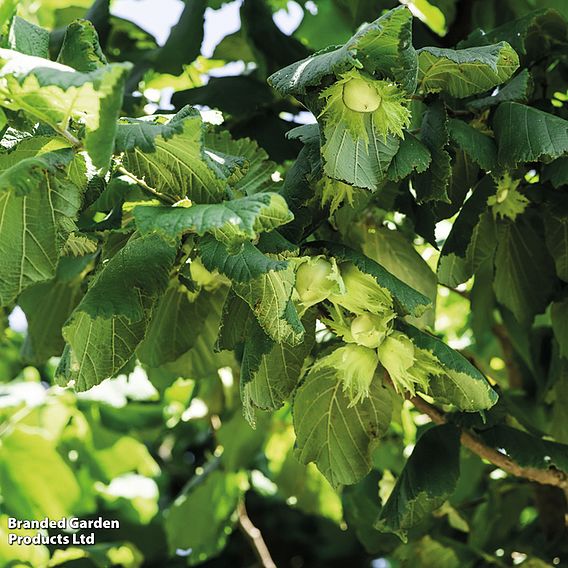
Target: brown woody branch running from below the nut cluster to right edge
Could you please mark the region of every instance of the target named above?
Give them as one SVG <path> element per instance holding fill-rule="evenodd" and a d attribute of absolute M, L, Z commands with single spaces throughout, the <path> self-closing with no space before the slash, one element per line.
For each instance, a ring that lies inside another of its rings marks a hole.
<path fill-rule="evenodd" d="M 420 410 L 423 414 L 427 414 L 435 424 L 446 424 L 448 422 L 446 415 L 429 402 L 419 396 L 410 397 L 408 400 Z M 480 458 L 491 462 L 503 471 L 514 475 L 515 477 L 524 477 L 530 481 L 536 481 L 543 485 L 555 485 L 561 489 L 568 489 L 568 476 L 559 469 L 538 469 L 536 467 L 523 467 L 512 460 L 509 456 L 498 452 L 494 448 L 490 448 L 484 444 L 477 436 L 462 430 L 461 443 L 463 446 L 477 454 Z"/>

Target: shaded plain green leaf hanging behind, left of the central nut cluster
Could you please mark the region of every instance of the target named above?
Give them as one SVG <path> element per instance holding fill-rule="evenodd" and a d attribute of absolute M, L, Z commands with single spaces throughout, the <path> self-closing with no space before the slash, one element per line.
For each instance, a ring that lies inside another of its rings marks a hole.
<path fill-rule="evenodd" d="M 192 296 L 177 280 L 170 282 L 154 306 L 144 341 L 136 350 L 142 363 L 159 367 L 193 347 L 208 315 L 205 294 Z"/>

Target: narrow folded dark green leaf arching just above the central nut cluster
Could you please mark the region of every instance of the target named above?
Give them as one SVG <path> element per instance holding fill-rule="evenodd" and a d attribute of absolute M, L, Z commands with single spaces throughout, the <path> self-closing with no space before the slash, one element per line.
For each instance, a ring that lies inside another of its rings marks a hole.
<path fill-rule="evenodd" d="M 420 316 L 430 307 L 431 302 L 424 294 L 405 284 L 378 262 L 364 254 L 346 246 L 331 243 L 325 244 L 323 252 L 339 261 L 350 261 L 361 272 L 373 276 L 379 286 L 386 288 L 392 294 L 395 306 L 402 314 Z"/>

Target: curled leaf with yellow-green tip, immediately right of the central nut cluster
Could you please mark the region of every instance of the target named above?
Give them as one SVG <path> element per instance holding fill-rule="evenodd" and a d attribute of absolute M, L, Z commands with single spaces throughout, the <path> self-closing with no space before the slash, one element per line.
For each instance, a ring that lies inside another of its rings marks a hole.
<path fill-rule="evenodd" d="M 426 394 L 466 412 L 485 410 L 497 402 L 497 393 L 487 379 L 463 355 L 437 337 L 410 324 L 400 322 L 398 327 L 417 347 L 432 352 L 445 371 L 430 377 Z"/>

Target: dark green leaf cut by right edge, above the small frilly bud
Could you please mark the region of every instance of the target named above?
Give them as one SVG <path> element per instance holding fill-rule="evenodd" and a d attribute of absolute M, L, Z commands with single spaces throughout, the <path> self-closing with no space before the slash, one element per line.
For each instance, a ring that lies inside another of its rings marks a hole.
<path fill-rule="evenodd" d="M 568 152 L 568 121 L 519 103 L 502 103 L 493 117 L 499 161 L 552 161 Z"/>

